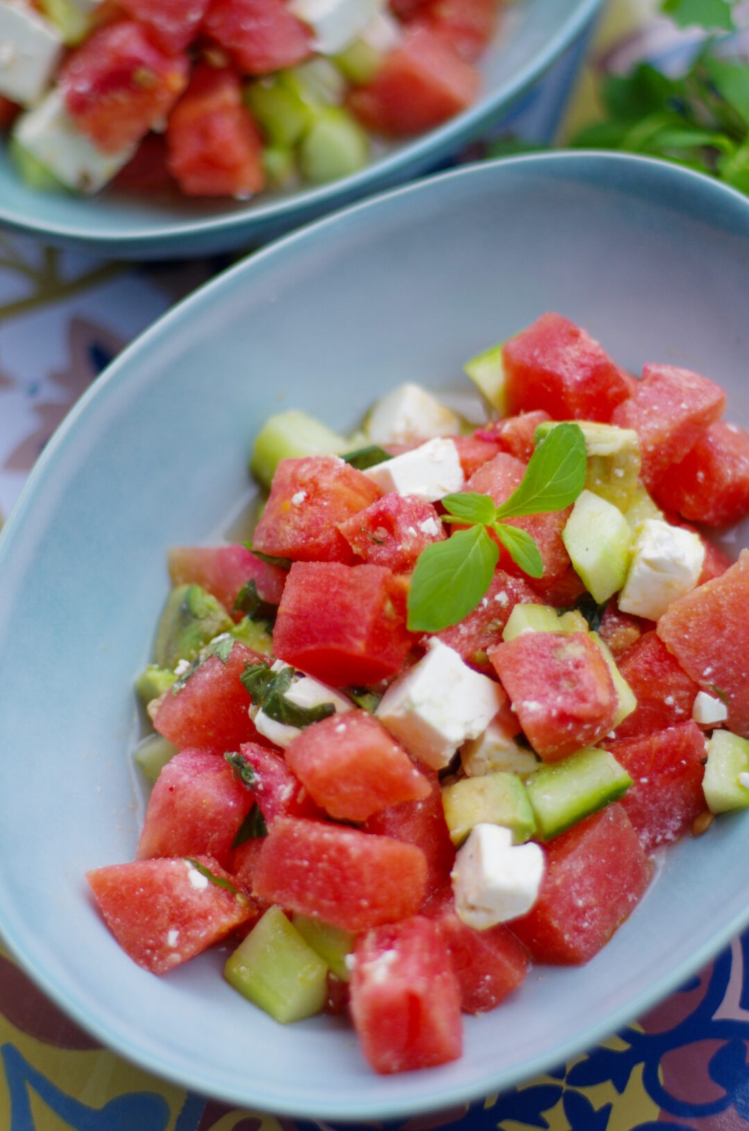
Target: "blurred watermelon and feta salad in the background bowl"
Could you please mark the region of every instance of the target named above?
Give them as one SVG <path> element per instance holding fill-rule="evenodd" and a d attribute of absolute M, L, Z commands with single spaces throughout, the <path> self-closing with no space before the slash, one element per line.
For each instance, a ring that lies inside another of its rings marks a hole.
<path fill-rule="evenodd" d="M 0 130 L 37 189 L 324 183 L 475 101 L 501 2 L 0 0 Z"/>

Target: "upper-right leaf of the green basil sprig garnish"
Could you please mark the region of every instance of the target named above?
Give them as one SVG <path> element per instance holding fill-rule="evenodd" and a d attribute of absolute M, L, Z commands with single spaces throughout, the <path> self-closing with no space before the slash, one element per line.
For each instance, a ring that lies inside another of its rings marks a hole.
<path fill-rule="evenodd" d="M 568 421 L 557 424 L 531 456 L 517 490 L 497 507 L 496 518 L 539 515 L 568 507 L 585 485 L 586 461 L 580 426 Z"/>

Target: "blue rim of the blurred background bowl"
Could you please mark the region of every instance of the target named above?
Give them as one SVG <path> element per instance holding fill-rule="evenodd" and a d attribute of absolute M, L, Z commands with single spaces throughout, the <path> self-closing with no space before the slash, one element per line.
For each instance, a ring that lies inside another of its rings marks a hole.
<path fill-rule="evenodd" d="M 274 225 L 301 224 L 322 211 L 337 206 L 346 206 L 363 195 L 386 190 L 397 183 L 404 175 L 425 173 L 445 159 L 458 144 L 459 139 L 468 144 L 479 132 L 490 126 L 493 120 L 510 110 L 514 104 L 543 76 L 562 53 L 582 36 L 592 25 L 596 12 L 604 0 L 574 0 L 576 9 L 566 19 L 556 36 L 545 48 L 530 60 L 499 90 L 487 98 L 480 98 L 463 113 L 457 114 L 440 127 L 429 130 L 414 139 L 406 139 L 384 157 L 378 158 L 364 169 L 327 184 L 312 187 L 278 196 L 267 204 L 260 204 L 256 209 L 235 209 L 230 213 L 201 218 L 178 218 L 163 223 L 141 224 L 135 221 L 127 228 L 114 232 L 96 216 L 81 217 L 81 221 L 54 221 L 45 223 L 41 217 L 29 217 L 19 209 L 12 209 L 0 200 L 0 225 L 40 240 L 59 242 L 81 251 L 103 253 L 111 258 L 123 258 L 129 254 L 148 253 L 154 241 L 160 244 L 160 258 L 166 258 L 171 252 L 187 253 L 192 247 L 200 253 L 200 245 L 209 249 L 218 241 L 221 247 L 233 244 L 253 238 L 262 239 L 267 227 L 270 238 Z M 81 199 L 85 204 L 85 200 Z"/>

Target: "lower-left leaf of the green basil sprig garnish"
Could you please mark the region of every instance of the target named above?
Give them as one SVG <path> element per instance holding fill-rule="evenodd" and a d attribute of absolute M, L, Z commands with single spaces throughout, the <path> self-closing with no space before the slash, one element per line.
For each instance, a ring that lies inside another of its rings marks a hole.
<path fill-rule="evenodd" d="M 408 629 L 439 632 L 462 621 L 489 588 L 498 560 L 499 547 L 484 526 L 427 546 L 411 578 Z"/>

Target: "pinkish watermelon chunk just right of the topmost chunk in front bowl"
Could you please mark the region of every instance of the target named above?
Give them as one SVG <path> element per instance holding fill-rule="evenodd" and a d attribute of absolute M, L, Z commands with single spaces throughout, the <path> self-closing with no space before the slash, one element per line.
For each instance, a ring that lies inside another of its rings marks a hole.
<path fill-rule="evenodd" d="M 687 455 L 707 424 L 725 407 L 725 392 L 714 381 L 677 365 L 644 365 L 634 396 L 611 417 L 619 428 L 635 429 L 646 487 Z"/>

